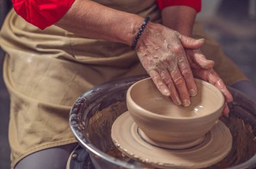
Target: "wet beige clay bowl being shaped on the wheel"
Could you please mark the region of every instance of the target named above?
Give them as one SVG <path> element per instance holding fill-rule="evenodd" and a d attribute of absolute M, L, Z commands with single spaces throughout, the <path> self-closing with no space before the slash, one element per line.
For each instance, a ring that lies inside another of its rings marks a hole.
<path fill-rule="evenodd" d="M 198 93 L 191 97 L 189 107 L 174 105 L 158 91 L 151 78 L 129 87 L 128 111 L 146 137 L 158 144 L 193 145 L 203 140 L 222 113 L 224 96 L 208 82 L 195 82 Z"/>

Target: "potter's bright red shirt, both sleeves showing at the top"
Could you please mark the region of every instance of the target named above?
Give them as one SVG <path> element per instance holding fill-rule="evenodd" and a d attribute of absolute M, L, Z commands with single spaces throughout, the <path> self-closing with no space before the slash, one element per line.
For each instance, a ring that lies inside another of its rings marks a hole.
<path fill-rule="evenodd" d="M 41 30 L 59 21 L 73 1 L 75 0 L 12 0 L 16 13 Z M 172 5 L 187 5 L 197 12 L 201 10 L 201 0 L 156 0 L 156 3 L 160 10 Z"/>

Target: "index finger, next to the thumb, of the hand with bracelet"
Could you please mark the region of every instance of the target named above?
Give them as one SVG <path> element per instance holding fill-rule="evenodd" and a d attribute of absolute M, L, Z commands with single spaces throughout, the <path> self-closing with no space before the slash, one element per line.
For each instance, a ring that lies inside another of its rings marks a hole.
<path fill-rule="evenodd" d="M 184 56 L 182 58 L 179 58 L 178 65 L 181 74 L 185 79 L 187 89 L 189 90 L 189 95 L 191 95 L 192 97 L 197 95 L 197 86 L 195 84 L 195 80 L 191 68 L 189 66 L 189 62 L 187 61 L 187 57 Z"/>

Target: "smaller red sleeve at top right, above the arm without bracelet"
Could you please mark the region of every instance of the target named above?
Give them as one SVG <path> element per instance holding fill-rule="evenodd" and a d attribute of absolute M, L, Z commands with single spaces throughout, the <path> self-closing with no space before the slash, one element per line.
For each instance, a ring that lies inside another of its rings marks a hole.
<path fill-rule="evenodd" d="M 160 10 L 164 7 L 175 5 L 186 5 L 195 9 L 195 11 L 201 11 L 201 0 L 156 0 Z"/>

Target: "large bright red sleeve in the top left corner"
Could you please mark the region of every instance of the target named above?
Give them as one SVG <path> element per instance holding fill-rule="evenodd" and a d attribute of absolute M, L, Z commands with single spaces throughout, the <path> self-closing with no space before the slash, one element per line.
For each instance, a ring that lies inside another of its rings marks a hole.
<path fill-rule="evenodd" d="M 73 1 L 75 0 L 12 0 L 16 13 L 41 30 L 59 21 Z"/>

